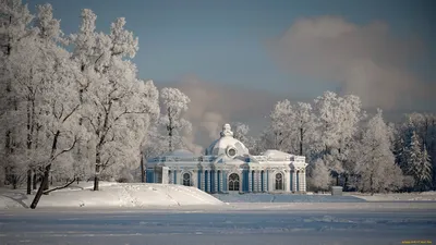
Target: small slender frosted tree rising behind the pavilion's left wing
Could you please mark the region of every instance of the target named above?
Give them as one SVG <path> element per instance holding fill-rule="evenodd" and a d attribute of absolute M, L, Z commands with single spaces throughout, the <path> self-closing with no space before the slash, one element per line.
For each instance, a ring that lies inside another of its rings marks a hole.
<path fill-rule="evenodd" d="M 187 110 L 190 98 L 178 88 L 165 87 L 160 91 L 162 100 L 162 113 L 160 123 L 165 126 L 168 135 L 168 150 L 172 151 L 174 146 L 183 144 L 182 131 L 190 132 L 191 123 L 183 119 L 183 112 Z"/>

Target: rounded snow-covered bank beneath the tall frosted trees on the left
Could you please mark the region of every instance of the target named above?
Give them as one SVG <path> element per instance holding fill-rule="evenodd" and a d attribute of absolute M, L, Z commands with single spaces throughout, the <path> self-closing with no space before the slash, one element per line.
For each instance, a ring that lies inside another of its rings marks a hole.
<path fill-rule="evenodd" d="M 81 183 L 44 195 L 37 208 L 116 208 L 222 205 L 222 201 L 195 187 L 172 184 L 101 182 L 94 192 L 93 183 Z M 33 195 L 25 189 L 0 189 L 0 209 L 29 207 Z"/>

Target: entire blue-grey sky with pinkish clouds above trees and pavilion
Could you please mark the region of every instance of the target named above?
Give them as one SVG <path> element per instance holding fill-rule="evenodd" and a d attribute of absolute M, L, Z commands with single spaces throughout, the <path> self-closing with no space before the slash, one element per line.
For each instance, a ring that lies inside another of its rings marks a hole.
<path fill-rule="evenodd" d="M 432 0 L 25 2 L 51 3 L 65 34 L 77 30 L 82 9 L 104 32 L 125 17 L 140 38 L 140 77 L 187 94 L 205 137 L 227 121 L 258 131 L 275 101 L 308 101 L 327 89 L 387 113 L 436 111 Z"/>

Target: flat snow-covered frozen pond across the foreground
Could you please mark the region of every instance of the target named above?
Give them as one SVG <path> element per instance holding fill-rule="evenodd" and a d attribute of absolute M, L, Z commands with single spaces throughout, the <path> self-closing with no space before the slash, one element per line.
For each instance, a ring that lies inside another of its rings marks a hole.
<path fill-rule="evenodd" d="M 0 244 L 401 244 L 435 231 L 434 210 L 0 212 Z"/>

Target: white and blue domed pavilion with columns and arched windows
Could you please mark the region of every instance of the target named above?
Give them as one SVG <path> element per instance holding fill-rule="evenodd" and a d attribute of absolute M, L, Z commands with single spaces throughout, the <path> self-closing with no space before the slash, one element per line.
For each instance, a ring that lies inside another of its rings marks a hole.
<path fill-rule="evenodd" d="M 252 156 L 225 124 L 204 156 L 178 149 L 147 159 L 146 182 L 195 186 L 207 193 L 305 193 L 305 157 L 279 150 Z"/>

